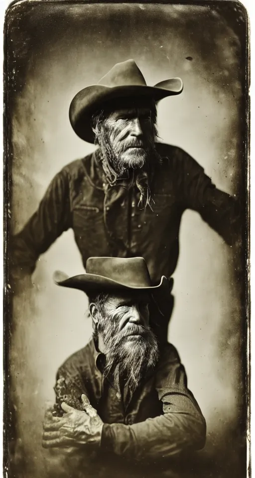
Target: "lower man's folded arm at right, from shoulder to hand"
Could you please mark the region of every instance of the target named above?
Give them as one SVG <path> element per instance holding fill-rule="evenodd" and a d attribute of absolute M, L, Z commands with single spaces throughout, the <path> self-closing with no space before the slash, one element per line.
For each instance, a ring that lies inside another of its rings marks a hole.
<path fill-rule="evenodd" d="M 66 405 L 63 407 L 62 403 L 62 409 L 68 413 L 61 418 L 53 418 L 53 422 L 46 421 L 43 446 L 80 447 L 94 443 L 98 451 L 101 449 L 138 461 L 169 458 L 183 451 L 203 448 L 205 420 L 187 388 L 185 369 L 170 344 L 164 347 L 155 371 L 155 388 L 162 403 L 162 415 L 132 425 L 103 424 L 85 395 L 82 395 L 83 406 L 80 409 L 84 411 L 72 406 L 66 410 Z M 67 396 L 66 392 L 64 395 Z"/>

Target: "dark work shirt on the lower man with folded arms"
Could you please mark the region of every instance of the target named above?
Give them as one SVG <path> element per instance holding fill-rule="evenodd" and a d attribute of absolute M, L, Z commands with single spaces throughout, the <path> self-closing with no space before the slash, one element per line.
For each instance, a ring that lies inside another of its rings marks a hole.
<path fill-rule="evenodd" d="M 91 340 L 57 373 L 76 399 L 87 395 L 103 420 L 101 454 L 155 462 L 203 448 L 205 420 L 187 388 L 185 369 L 173 345 L 160 348 L 156 368 L 144 376 L 133 394 L 125 389 L 118 392 L 104 378 L 103 357 Z M 68 392 L 66 396 L 68 402 Z M 72 397 L 68 403 L 73 405 Z"/>

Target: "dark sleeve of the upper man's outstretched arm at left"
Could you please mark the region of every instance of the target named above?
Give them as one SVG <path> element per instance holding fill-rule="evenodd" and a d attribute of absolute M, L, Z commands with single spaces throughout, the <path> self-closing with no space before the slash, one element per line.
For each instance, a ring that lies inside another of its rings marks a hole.
<path fill-rule="evenodd" d="M 63 169 L 51 181 L 37 211 L 11 240 L 14 278 L 32 274 L 39 255 L 69 227 L 69 177 Z"/>

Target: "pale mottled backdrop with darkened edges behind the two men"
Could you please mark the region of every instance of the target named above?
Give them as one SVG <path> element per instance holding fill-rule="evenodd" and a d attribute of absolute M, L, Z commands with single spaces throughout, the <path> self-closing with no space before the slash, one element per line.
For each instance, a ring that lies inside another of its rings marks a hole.
<path fill-rule="evenodd" d="M 244 198 L 245 72 L 238 28 L 245 13 L 233 14 L 236 23 L 213 7 L 198 5 L 24 2 L 11 7 L 5 72 L 12 231 L 19 231 L 34 212 L 54 174 L 94 148 L 71 128 L 73 96 L 128 58 L 149 85 L 182 78 L 183 93 L 159 104 L 160 138 L 190 153 L 219 188 Z M 169 340 L 180 353 L 208 425 L 206 449 L 197 459 L 201 477 L 246 476 L 244 285 L 238 284 L 235 267 L 240 261 L 232 250 L 196 213 L 186 212 Z M 55 286 L 56 269 L 83 271 L 71 231 L 40 258 L 34 289 L 13 301 L 10 394 L 16 440 L 10 451 L 18 477 L 47 476 L 49 457 L 41 448 L 45 401 L 54 399 L 57 367 L 86 343 L 92 330 L 85 296 Z"/>

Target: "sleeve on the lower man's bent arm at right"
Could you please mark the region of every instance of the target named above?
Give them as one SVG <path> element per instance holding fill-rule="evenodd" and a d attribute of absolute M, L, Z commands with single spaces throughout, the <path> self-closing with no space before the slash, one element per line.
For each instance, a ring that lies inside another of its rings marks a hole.
<path fill-rule="evenodd" d="M 104 424 L 101 447 L 136 460 L 169 458 L 188 449 L 201 449 L 206 424 L 187 389 L 187 377 L 175 349 L 170 346 L 156 378 L 163 415 L 133 425 Z M 168 348 L 169 348 L 168 347 Z"/>

